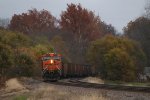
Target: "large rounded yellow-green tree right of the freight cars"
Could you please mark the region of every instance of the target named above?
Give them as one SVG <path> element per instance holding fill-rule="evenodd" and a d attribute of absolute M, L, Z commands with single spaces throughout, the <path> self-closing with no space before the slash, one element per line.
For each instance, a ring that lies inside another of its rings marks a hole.
<path fill-rule="evenodd" d="M 96 73 L 100 74 L 102 78 L 114 80 L 117 79 L 115 75 L 124 69 L 127 70 L 126 74 L 129 72 L 128 75 L 133 73 L 133 77 L 138 77 L 143 72 L 146 59 L 137 42 L 108 35 L 91 43 L 87 52 L 87 60 L 96 68 Z M 108 74 L 109 71 L 115 73 L 114 76 L 111 77 Z M 125 77 L 122 77 L 121 80 L 124 79 Z"/>

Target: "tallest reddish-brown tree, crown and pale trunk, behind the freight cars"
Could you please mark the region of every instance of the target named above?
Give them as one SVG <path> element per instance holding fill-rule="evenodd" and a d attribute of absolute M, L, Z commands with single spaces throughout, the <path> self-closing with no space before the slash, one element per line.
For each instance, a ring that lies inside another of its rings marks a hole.
<path fill-rule="evenodd" d="M 90 41 L 112 33 L 107 30 L 108 26 L 94 12 L 83 8 L 80 4 L 68 4 L 67 6 L 67 10 L 61 14 L 60 27 L 67 34 L 64 36 L 65 40 L 70 43 L 70 51 L 79 59 L 84 56 Z"/>

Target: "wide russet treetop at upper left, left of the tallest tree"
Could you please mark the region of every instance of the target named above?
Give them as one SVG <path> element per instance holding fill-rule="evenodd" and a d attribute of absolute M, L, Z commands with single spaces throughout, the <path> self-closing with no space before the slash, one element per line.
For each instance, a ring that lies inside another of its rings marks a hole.
<path fill-rule="evenodd" d="M 51 35 L 56 26 L 56 18 L 47 10 L 28 10 L 27 13 L 14 14 L 9 28 L 25 34 Z M 50 34 L 51 33 L 51 34 Z"/>

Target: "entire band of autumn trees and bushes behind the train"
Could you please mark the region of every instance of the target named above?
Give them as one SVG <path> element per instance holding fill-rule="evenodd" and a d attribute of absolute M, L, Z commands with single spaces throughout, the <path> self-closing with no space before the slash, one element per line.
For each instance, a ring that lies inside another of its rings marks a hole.
<path fill-rule="evenodd" d="M 136 81 L 150 66 L 150 19 L 143 16 L 117 34 L 81 4 L 67 4 L 60 19 L 37 9 L 14 14 L 0 28 L 0 77 L 40 74 L 39 57 L 58 52 L 65 62 L 91 64 L 108 80 Z"/>

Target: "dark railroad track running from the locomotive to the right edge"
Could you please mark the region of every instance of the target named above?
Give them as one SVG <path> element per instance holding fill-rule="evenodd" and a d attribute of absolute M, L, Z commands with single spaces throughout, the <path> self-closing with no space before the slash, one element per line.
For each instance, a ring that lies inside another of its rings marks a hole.
<path fill-rule="evenodd" d="M 96 83 L 81 82 L 79 80 L 74 80 L 74 79 L 68 80 L 66 82 L 58 81 L 58 82 L 48 82 L 48 83 L 55 84 L 55 85 L 75 86 L 75 87 L 94 88 L 94 89 L 150 93 L 150 87 L 96 84 Z"/>

